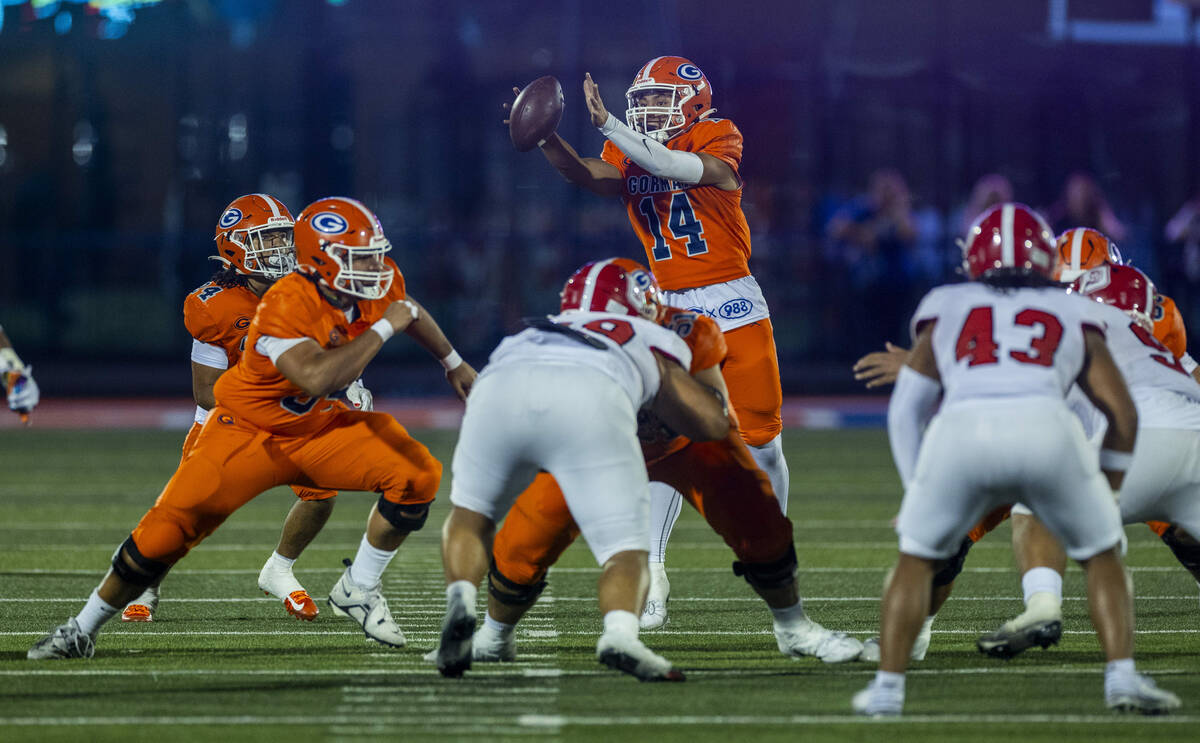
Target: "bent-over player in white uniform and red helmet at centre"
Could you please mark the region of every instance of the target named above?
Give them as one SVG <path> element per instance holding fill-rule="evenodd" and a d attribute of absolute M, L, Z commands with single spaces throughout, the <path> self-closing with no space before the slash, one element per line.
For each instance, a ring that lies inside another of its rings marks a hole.
<path fill-rule="evenodd" d="M 446 613 L 438 671 L 470 667 L 475 594 L 487 545 L 538 472 L 563 497 L 596 562 L 604 631 L 596 659 L 641 681 L 683 673 L 637 639 L 649 582 L 649 481 L 635 435 L 649 405 L 694 441 L 730 431 L 725 395 L 688 373 L 691 349 L 658 323 L 662 306 L 649 271 L 623 259 L 589 263 L 568 280 L 564 312 L 505 338 L 479 377 L 454 454 L 442 529 Z"/>

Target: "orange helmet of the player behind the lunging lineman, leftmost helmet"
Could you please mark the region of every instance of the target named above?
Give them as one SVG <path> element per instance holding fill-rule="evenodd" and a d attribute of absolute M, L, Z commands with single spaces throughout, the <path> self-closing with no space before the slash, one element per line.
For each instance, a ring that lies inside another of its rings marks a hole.
<path fill-rule="evenodd" d="M 244 276 L 280 278 L 295 268 L 293 224 L 292 212 L 274 196 L 239 196 L 217 220 L 214 259 Z"/>

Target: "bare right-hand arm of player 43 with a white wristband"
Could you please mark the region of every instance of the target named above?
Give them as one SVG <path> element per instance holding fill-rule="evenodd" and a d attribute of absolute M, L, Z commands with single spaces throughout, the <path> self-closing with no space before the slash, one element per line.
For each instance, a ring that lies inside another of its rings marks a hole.
<path fill-rule="evenodd" d="M 1121 489 L 1124 471 L 1133 460 L 1133 445 L 1138 438 L 1138 408 L 1134 407 L 1124 377 L 1109 353 L 1108 343 L 1099 330 L 1084 330 L 1087 358 L 1084 372 L 1079 375 L 1079 387 L 1104 418 L 1109 429 L 1100 444 L 1100 469 L 1112 490 Z"/>

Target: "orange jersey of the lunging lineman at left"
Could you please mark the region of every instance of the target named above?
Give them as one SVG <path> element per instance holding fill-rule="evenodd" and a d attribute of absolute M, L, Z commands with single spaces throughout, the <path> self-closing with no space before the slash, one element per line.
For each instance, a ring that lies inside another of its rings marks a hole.
<path fill-rule="evenodd" d="M 258 304 L 246 335 L 245 353 L 236 366 L 221 375 L 214 388 L 217 405 L 244 420 L 274 433 L 306 435 L 319 431 L 332 414 L 347 411 L 338 395 L 308 397 L 304 390 L 280 373 L 269 358 L 254 349 L 260 336 L 276 338 L 312 338 L 322 348 L 343 346 L 366 332 L 383 317 L 388 306 L 404 299 L 404 277 L 395 271 L 391 289 L 383 299 L 356 302 L 358 317 L 350 322 L 346 312 L 331 305 L 317 284 L 302 274 L 288 274 L 275 282 Z"/>

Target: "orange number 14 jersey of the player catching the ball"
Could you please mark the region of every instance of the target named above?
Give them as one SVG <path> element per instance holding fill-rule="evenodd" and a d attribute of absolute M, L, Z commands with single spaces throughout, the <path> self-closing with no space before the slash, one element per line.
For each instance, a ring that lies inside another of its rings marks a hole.
<path fill-rule="evenodd" d="M 742 163 L 742 132 L 728 119 L 703 119 L 665 144 L 712 155 L 734 174 Z M 620 170 L 629 221 L 664 289 L 707 287 L 750 275 L 750 226 L 742 212 L 740 175 L 736 191 L 721 191 L 650 175 L 612 142 L 605 142 L 600 157 Z"/>

